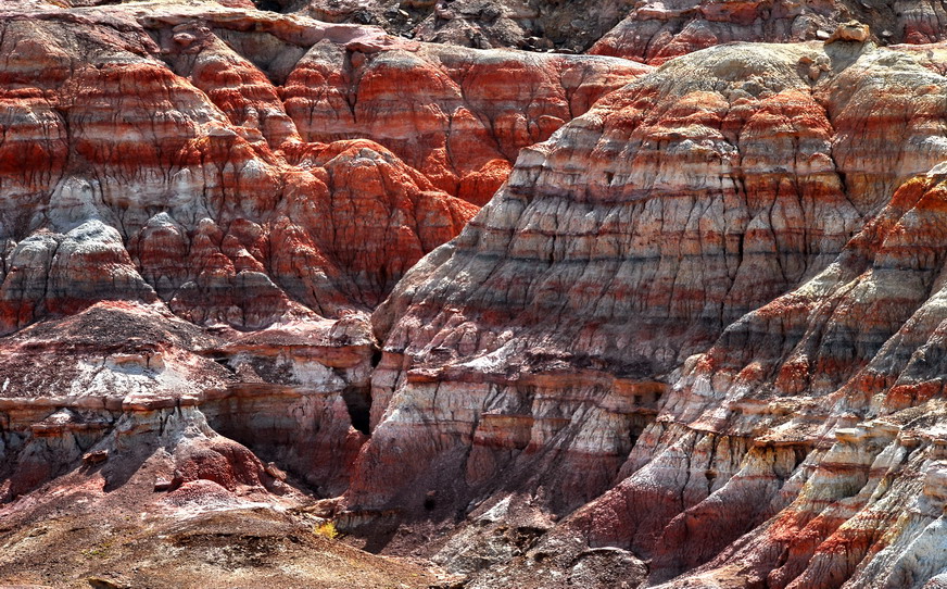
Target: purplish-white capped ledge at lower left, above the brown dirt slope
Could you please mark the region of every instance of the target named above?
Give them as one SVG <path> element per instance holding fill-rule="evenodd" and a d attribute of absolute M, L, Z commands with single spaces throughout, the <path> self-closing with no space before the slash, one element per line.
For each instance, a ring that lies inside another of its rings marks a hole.
<path fill-rule="evenodd" d="M 250 458 L 227 454 L 228 464 L 278 461 L 325 497 L 346 488 L 365 441 L 352 424 L 364 429 L 373 340 L 357 317 L 210 335 L 160 304 L 102 302 L 3 338 L 2 351 L 3 501 L 88 452 L 105 450 L 115 463 L 151 448 L 182 415 L 202 424 L 201 439 L 223 434 L 242 444 Z M 177 483 L 167 473 L 172 487 L 206 478 L 203 466 L 189 467 L 191 478 L 181 468 Z"/>

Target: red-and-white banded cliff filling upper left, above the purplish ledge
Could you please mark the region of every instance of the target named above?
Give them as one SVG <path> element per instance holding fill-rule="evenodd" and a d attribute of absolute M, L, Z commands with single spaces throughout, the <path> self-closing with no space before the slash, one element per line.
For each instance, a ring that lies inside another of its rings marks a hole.
<path fill-rule="evenodd" d="M 646 71 L 217 4 L 2 26 L 3 333 L 106 298 L 241 329 L 370 310 L 519 148 Z"/>

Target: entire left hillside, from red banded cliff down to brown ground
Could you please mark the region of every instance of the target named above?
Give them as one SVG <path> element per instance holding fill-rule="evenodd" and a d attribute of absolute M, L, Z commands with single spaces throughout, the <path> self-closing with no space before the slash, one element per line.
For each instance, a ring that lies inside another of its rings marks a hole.
<path fill-rule="evenodd" d="M 66 4 L 0 7 L 0 581 L 430 585 L 310 538 L 367 438 L 366 312 L 521 147 L 649 67 Z M 131 566 L 182 547 L 189 580 Z"/>

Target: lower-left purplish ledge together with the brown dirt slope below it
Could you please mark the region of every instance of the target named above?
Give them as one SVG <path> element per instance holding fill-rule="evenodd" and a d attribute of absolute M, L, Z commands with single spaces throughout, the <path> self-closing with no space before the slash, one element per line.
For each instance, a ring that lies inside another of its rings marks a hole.
<path fill-rule="evenodd" d="M 433 584 L 315 532 L 371 353 L 364 317 L 212 331 L 157 302 L 0 338 L 0 582 Z"/>

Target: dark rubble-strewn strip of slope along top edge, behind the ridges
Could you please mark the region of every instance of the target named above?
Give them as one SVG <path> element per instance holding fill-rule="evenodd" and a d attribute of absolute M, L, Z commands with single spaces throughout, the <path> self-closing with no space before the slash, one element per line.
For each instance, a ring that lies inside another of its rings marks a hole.
<path fill-rule="evenodd" d="M 591 52 L 659 64 L 733 41 L 826 40 L 853 22 L 874 42 L 929 43 L 944 38 L 939 2 L 836 0 L 276 0 L 269 10 L 333 23 L 375 24 L 390 34 L 462 47 Z"/>

